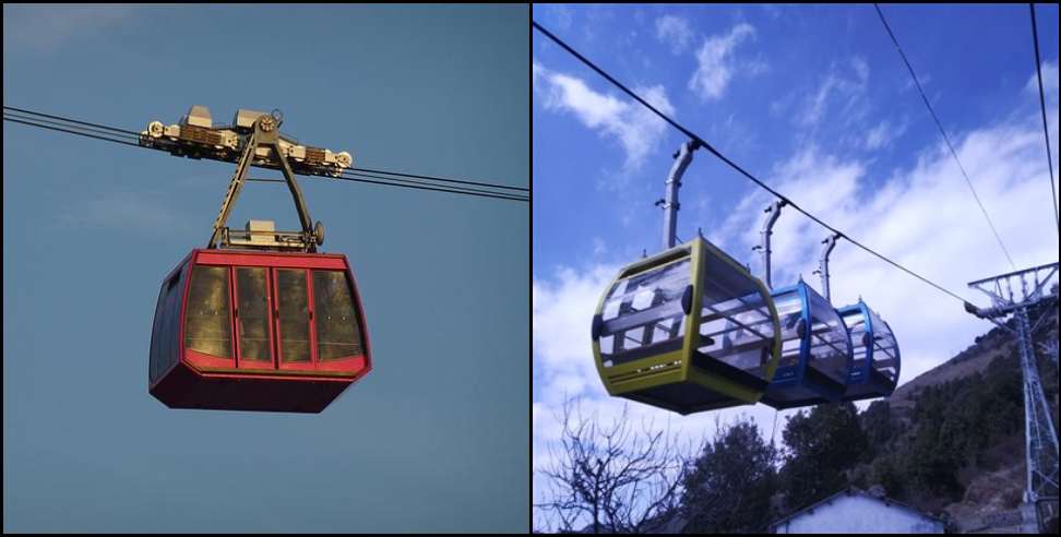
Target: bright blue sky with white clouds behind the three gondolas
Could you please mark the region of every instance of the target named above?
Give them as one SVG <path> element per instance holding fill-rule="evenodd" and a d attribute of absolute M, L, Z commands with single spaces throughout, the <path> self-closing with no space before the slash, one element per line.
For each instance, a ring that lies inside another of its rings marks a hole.
<path fill-rule="evenodd" d="M 1016 265 L 1057 261 L 1027 5 L 882 9 Z M 966 283 L 1011 270 L 872 5 L 536 5 L 533 15 L 752 174 L 899 263 L 981 305 Z M 1037 15 L 1057 171 L 1058 8 L 1039 5 Z M 622 406 L 596 377 L 589 319 L 618 267 L 660 248 L 653 202 L 684 140 L 538 33 L 532 56 L 533 457 L 540 466 L 564 394 L 583 396 L 584 410 L 600 418 Z M 681 189 L 678 236 L 701 228 L 760 274 L 751 247 L 770 202 L 698 152 Z M 816 287 L 825 235 L 783 212 L 775 284 L 802 275 Z M 901 382 L 990 327 L 850 244 L 836 247 L 831 272 L 834 302 L 862 297 L 895 330 Z M 713 416 L 632 410 L 687 434 L 714 430 Z M 773 409 L 719 414 L 738 413 L 768 433 Z"/>

